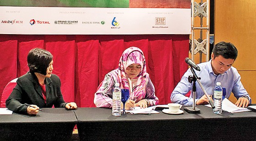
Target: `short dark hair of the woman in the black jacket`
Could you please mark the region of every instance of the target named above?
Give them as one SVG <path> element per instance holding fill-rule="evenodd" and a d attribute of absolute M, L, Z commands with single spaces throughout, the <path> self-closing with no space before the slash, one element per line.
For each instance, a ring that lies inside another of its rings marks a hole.
<path fill-rule="evenodd" d="M 53 55 L 49 51 L 40 48 L 30 50 L 27 55 L 29 71 L 32 73 L 38 72 L 44 76 L 52 60 Z"/>

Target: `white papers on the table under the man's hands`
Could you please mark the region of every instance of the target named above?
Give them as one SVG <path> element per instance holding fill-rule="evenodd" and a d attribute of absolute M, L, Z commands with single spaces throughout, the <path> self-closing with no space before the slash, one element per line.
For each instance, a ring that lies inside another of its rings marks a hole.
<path fill-rule="evenodd" d="M 208 107 L 211 107 L 209 104 L 205 105 Z M 222 110 L 230 112 L 230 113 L 237 113 L 237 112 L 243 112 L 243 111 L 251 111 L 247 108 L 242 108 L 242 107 L 237 107 L 234 103 L 232 103 L 231 101 L 229 101 L 229 99 L 225 98 L 222 101 Z"/>

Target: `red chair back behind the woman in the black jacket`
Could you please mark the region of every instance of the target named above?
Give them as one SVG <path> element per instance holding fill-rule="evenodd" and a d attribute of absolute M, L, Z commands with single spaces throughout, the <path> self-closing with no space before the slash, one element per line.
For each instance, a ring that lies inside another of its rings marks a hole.
<path fill-rule="evenodd" d="M 11 95 L 13 88 L 16 86 L 16 81 L 18 78 L 10 81 L 6 86 L 1 96 L 0 108 L 5 108 L 5 101 Z"/>

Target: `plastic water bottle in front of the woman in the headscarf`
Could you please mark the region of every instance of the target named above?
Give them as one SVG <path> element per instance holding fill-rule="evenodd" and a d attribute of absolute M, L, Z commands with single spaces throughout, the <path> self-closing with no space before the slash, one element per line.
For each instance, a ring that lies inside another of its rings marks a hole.
<path fill-rule="evenodd" d="M 121 116 L 121 89 L 119 87 L 119 83 L 115 83 L 115 88 L 112 94 L 112 115 Z"/>

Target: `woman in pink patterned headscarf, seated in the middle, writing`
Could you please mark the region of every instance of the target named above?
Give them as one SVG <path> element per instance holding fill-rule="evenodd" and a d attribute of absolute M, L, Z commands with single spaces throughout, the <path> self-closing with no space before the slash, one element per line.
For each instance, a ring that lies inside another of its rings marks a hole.
<path fill-rule="evenodd" d="M 105 76 L 95 93 L 94 103 L 97 107 L 112 107 L 112 91 L 115 83 L 119 83 L 121 89 L 130 91 L 130 98 L 125 104 L 126 110 L 135 106 L 146 108 L 158 104 L 155 87 L 146 72 L 145 57 L 142 50 L 137 47 L 124 50 L 118 69 Z"/>

